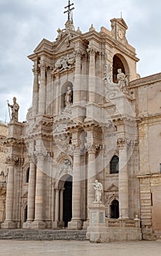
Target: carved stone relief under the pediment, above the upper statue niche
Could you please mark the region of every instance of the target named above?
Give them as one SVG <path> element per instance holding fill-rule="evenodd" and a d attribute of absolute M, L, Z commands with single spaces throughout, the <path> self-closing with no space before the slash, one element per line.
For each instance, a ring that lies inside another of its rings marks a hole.
<path fill-rule="evenodd" d="M 74 68 L 75 61 L 75 57 L 71 57 L 69 55 L 66 57 L 62 56 L 60 59 L 58 59 L 58 61 L 56 61 L 55 68 L 52 70 L 52 74 L 55 75 L 55 73 Z"/>

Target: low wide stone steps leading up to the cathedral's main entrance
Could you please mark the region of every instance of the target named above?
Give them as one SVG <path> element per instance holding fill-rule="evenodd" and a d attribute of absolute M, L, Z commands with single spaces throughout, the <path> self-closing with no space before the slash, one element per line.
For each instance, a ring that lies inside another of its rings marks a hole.
<path fill-rule="evenodd" d="M 85 241 L 85 230 L 0 230 L 0 240 L 76 240 Z"/>

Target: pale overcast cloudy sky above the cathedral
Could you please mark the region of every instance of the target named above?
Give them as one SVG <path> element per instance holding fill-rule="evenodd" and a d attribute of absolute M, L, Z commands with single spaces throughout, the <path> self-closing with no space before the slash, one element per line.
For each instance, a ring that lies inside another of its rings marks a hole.
<path fill-rule="evenodd" d="M 111 18 L 127 23 L 127 40 L 140 59 L 141 77 L 161 72 L 160 0 L 73 0 L 74 26 L 85 33 L 93 23 L 111 30 Z M 7 99 L 17 97 L 19 121 L 25 121 L 32 98 L 32 62 L 27 58 L 43 38 L 54 41 L 64 28 L 67 0 L 0 0 L 0 120 L 9 121 Z"/>

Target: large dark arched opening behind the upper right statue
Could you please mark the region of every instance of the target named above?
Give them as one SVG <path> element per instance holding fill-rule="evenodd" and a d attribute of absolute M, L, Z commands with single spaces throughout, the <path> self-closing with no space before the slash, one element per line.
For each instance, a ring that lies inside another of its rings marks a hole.
<path fill-rule="evenodd" d="M 114 57 L 113 57 L 113 82 L 114 83 L 118 83 L 118 81 L 117 81 L 117 73 L 118 73 L 117 69 L 122 69 L 122 72 L 125 75 L 129 75 L 129 73 L 130 73 L 127 61 L 119 53 L 115 54 Z M 129 79 L 128 76 L 127 76 L 127 78 Z"/>

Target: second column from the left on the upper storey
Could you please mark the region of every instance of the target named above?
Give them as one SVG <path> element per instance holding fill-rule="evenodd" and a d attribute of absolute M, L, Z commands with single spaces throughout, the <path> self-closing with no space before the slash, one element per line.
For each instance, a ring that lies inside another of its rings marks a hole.
<path fill-rule="evenodd" d="M 41 75 L 40 75 L 40 86 L 39 86 L 39 114 L 44 114 L 45 113 L 45 108 L 46 108 L 46 77 L 45 77 L 45 70 L 46 67 L 44 63 L 41 63 Z"/>

